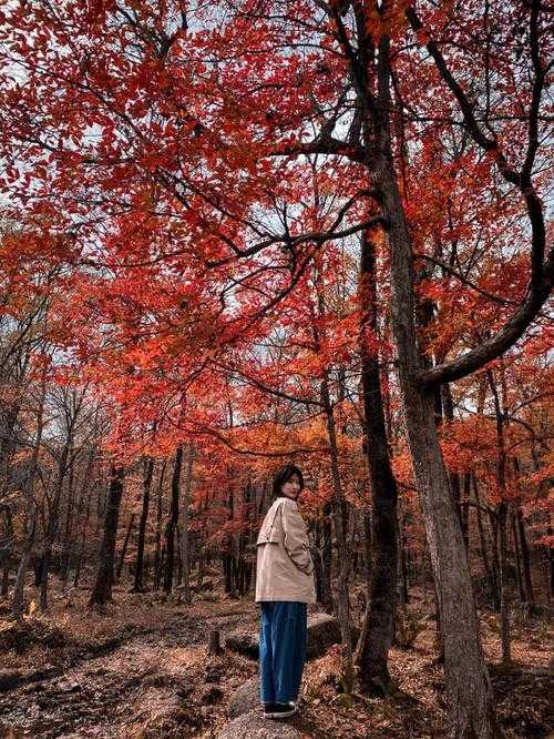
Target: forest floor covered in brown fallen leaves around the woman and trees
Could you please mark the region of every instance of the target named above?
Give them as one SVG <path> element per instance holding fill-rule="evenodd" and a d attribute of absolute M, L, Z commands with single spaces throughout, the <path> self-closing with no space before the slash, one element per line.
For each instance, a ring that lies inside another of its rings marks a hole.
<path fill-rule="evenodd" d="M 222 640 L 239 627 L 257 631 L 252 599 L 217 590 L 192 606 L 153 594 L 115 593 L 105 614 L 86 610 L 86 590 L 52 593 L 47 616 L 20 625 L 0 620 L 0 738 L 106 737 L 208 739 L 228 721 L 237 687 L 257 664 L 228 650 L 207 657 L 212 629 Z M 410 618 L 419 631 L 406 649 L 393 648 L 390 669 L 398 692 L 388 699 L 337 692 L 336 655 L 306 665 L 306 705 L 290 722 L 306 739 L 424 739 L 444 737 L 443 671 L 437 665 L 430 600 L 414 593 Z M 0 604 L 0 619 L 2 618 Z M 497 619 L 481 614 L 482 636 L 506 737 L 551 737 L 548 697 L 552 632 L 544 618 L 514 615 L 514 665 L 500 667 Z"/>

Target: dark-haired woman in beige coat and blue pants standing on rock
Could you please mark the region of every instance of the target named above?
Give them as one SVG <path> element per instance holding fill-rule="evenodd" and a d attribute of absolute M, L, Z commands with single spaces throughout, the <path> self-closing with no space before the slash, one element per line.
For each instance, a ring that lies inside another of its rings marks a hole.
<path fill-rule="evenodd" d="M 316 603 L 308 535 L 296 504 L 302 489 L 302 474 L 295 465 L 287 465 L 275 476 L 275 499 L 256 543 L 265 718 L 286 718 L 297 710 L 295 701 L 306 660 L 307 604 Z"/>

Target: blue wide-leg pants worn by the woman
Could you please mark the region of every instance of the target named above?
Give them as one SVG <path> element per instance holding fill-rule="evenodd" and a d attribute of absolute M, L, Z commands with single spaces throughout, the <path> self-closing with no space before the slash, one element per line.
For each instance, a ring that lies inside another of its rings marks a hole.
<path fill-rule="evenodd" d="M 259 694 L 264 703 L 296 700 L 300 690 L 308 610 L 305 603 L 260 603 Z"/>

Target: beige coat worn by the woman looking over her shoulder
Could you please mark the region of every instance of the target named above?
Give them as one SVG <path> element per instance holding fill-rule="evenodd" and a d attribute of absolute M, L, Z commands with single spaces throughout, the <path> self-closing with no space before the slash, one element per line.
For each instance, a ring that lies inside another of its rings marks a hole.
<path fill-rule="evenodd" d="M 308 534 L 296 500 L 286 497 L 274 500 L 256 546 L 256 603 L 316 603 Z"/>

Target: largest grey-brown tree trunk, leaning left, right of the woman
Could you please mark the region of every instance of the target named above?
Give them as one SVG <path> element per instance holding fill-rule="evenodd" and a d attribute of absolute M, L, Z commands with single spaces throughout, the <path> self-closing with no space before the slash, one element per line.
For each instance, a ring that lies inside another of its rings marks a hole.
<path fill-rule="evenodd" d="M 375 115 L 381 153 L 376 162 L 375 182 L 382 191 L 383 214 L 389 222 L 391 324 L 408 442 L 439 596 L 451 733 L 460 739 L 490 739 L 496 733 L 492 690 L 481 646 L 465 547 L 439 445 L 433 391 L 423 388 L 417 379 L 424 362 L 416 334 L 413 255 L 392 165 L 387 37 L 381 39 L 379 60 L 380 101 Z"/>

